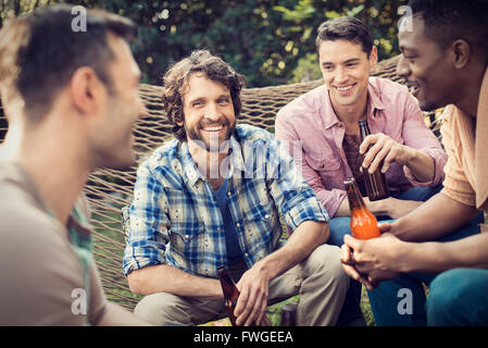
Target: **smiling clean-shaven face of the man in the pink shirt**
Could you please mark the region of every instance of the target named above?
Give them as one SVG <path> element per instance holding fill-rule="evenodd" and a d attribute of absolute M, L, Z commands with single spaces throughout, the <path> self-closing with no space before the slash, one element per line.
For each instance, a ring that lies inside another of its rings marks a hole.
<path fill-rule="evenodd" d="M 345 39 L 326 40 L 318 47 L 318 59 L 335 109 L 365 108 L 370 71 L 377 60 L 376 48 L 368 58 L 360 44 Z"/>

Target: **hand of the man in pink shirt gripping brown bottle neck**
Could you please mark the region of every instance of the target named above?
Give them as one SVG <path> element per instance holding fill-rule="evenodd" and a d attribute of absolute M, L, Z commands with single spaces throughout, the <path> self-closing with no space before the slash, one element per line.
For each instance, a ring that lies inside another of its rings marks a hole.
<path fill-rule="evenodd" d="M 368 147 L 371 148 L 368 149 Z M 398 162 L 405 165 L 413 157 L 414 149 L 401 145 L 389 136 L 383 133 L 371 134 L 364 138 L 360 146 L 360 153 L 364 157 L 363 167 L 367 169 L 370 173 L 376 171 L 383 162 L 381 173 L 386 173 L 391 162 Z"/>

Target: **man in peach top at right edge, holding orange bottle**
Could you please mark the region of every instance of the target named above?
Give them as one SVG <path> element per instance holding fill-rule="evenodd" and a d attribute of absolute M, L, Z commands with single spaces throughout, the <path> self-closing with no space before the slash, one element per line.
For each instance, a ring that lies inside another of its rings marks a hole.
<path fill-rule="evenodd" d="M 380 325 L 488 325 L 488 234 L 472 220 L 488 211 L 488 3 L 409 5 L 413 16 L 400 25 L 397 73 L 414 86 L 422 109 L 447 105 L 443 189 L 380 225 L 380 238 L 346 236 L 343 268 L 376 287 L 368 295 Z M 422 283 L 429 285 L 427 300 Z"/>

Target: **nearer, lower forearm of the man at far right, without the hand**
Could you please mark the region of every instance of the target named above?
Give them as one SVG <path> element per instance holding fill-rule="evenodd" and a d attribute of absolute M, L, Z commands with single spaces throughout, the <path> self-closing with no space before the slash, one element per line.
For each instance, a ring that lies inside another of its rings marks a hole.
<path fill-rule="evenodd" d="M 488 269 L 488 234 L 455 241 L 410 243 L 404 272 L 443 272 L 455 268 Z"/>

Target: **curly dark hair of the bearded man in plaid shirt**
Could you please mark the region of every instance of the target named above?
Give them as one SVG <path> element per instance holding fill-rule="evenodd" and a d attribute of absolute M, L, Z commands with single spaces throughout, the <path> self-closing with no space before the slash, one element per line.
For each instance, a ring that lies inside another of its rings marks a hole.
<path fill-rule="evenodd" d="M 213 55 L 207 50 L 191 52 L 189 57 L 171 66 L 163 77 L 163 108 L 173 125 L 175 137 L 182 141 L 186 140 L 186 132 L 185 127 L 179 126 L 177 123 L 185 121 L 183 113 L 184 90 L 190 76 L 199 72 L 204 73 L 210 79 L 218 82 L 228 88 L 236 117 L 239 116 L 242 109 L 240 90 L 246 83 L 243 76 L 236 73 L 220 57 Z"/>

